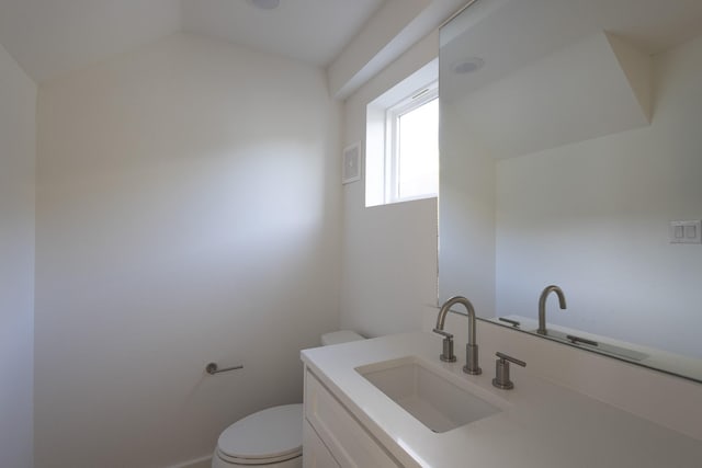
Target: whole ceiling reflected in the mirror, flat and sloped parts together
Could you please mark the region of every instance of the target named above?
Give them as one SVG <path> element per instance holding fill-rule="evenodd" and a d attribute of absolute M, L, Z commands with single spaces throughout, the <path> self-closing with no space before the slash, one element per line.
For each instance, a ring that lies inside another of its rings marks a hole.
<path fill-rule="evenodd" d="M 652 56 L 700 34 L 700 0 L 480 1 L 442 31 L 441 102 L 496 159 L 637 128 Z"/>

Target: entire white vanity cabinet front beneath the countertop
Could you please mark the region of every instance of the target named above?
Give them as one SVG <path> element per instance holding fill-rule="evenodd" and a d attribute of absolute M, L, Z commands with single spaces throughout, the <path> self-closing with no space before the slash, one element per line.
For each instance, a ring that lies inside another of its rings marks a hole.
<path fill-rule="evenodd" d="M 305 369 L 305 468 L 401 467 L 308 368 Z"/>

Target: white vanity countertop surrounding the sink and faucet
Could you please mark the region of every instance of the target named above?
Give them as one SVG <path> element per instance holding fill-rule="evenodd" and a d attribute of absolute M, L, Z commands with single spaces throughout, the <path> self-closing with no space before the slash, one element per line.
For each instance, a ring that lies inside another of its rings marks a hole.
<path fill-rule="evenodd" d="M 491 385 L 492 356 L 480 357 L 483 375 L 468 376 L 461 370 L 461 345 L 456 345 L 456 363 L 440 362 L 440 336 L 409 333 L 305 350 L 302 358 L 408 467 L 702 467 L 702 441 L 534 377 L 529 367 L 512 365 L 516 388 L 499 390 Z M 458 376 L 475 393 L 489 392 L 502 411 L 433 433 L 355 372 L 359 366 L 405 356 L 418 356 Z"/>

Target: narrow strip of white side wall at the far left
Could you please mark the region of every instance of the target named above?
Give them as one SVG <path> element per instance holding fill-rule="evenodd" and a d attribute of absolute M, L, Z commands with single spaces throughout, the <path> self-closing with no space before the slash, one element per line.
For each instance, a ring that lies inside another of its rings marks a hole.
<path fill-rule="evenodd" d="M 30 468 L 36 85 L 0 45 L 0 466 Z"/>

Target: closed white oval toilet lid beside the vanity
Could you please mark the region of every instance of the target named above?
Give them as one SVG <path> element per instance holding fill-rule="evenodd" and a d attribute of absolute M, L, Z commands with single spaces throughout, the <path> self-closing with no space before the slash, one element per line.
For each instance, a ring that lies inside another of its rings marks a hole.
<path fill-rule="evenodd" d="M 217 443 L 236 458 L 274 458 L 295 455 L 303 445 L 303 406 L 285 404 L 259 411 L 227 427 Z"/>

